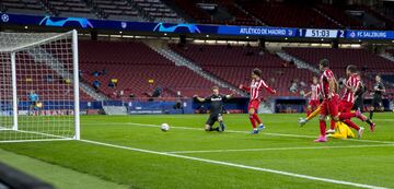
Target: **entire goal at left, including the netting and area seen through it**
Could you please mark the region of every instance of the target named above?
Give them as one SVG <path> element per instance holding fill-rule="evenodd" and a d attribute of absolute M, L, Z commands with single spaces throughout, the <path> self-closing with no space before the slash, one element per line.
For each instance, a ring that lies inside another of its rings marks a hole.
<path fill-rule="evenodd" d="M 0 142 L 79 140 L 78 34 L 0 32 Z"/>

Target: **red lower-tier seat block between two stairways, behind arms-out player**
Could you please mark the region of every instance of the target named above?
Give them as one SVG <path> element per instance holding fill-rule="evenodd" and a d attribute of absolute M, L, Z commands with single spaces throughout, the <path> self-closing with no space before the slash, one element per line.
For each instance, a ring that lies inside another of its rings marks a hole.
<path fill-rule="evenodd" d="M 314 75 L 313 72 L 297 69 L 293 64 L 269 52 L 262 54 L 256 47 L 225 45 L 187 45 L 187 48 L 170 45 L 170 47 L 201 66 L 204 70 L 235 86 L 247 84 L 251 70 L 260 68 L 266 82 L 278 88 L 278 96 L 298 96 L 299 93 L 290 93 L 291 83 L 297 81 L 297 83 L 303 82 L 309 85 Z"/>

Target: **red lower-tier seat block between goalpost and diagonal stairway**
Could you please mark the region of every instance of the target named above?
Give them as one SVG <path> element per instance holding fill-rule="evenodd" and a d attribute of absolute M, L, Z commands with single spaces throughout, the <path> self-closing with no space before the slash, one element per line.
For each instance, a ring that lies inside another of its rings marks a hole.
<path fill-rule="evenodd" d="M 194 71 L 175 66 L 139 42 L 81 40 L 80 62 L 83 79 L 89 83 L 100 81 L 100 92 L 111 98 L 119 98 L 115 94 L 119 91 L 124 91 L 123 97 L 129 97 L 130 94 L 147 97 L 146 93 L 151 93 L 157 87 L 162 87 L 163 97 L 175 97 L 177 91 L 182 96 L 192 97 L 194 94 L 208 95 L 210 87 L 215 85 Z M 93 72 L 103 70 L 105 74 L 92 75 Z M 116 87 L 108 86 L 112 79 L 118 80 Z M 154 84 L 150 84 L 149 80 L 153 80 Z"/>

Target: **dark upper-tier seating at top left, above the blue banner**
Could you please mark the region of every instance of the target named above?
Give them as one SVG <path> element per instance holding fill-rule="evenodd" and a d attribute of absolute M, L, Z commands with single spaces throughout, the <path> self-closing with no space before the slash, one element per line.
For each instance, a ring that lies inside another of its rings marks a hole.
<path fill-rule="evenodd" d="M 183 21 L 160 0 L 4 0 L 1 10 L 23 14 L 125 21 Z"/>

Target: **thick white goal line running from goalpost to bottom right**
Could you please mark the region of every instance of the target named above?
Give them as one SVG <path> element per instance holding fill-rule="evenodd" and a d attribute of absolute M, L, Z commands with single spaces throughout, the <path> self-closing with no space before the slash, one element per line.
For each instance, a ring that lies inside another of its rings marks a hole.
<path fill-rule="evenodd" d="M 270 168 L 254 167 L 254 166 L 247 166 L 247 165 L 242 165 L 242 164 L 234 164 L 234 163 L 228 163 L 228 162 L 221 162 L 221 161 L 199 158 L 199 157 L 193 157 L 193 156 L 186 156 L 186 155 L 170 154 L 170 153 L 165 153 L 165 152 L 157 152 L 157 151 L 150 151 L 150 150 L 143 150 L 143 149 L 136 149 L 136 147 L 109 144 L 109 143 L 104 143 L 104 142 L 99 142 L 99 141 L 83 140 L 83 139 L 81 139 L 80 141 L 85 142 L 85 143 L 95 144 L 95 145 L 103 145 L 103 146 L 108 146 L 108 147 L 123 149 L 123 150 L 128 150 L 128 151 L 148 153 L 148 154 L 164 155 L 164 156 L 171 156 L 171 157 L 177 157 L 177 158 L 185 158 L 185 160 L 204 162 L 204 163 L 209 163 L 209 164 L 217 164 L 217 165 L 223 165 L 223 166 L 229 166 L 229 167 L 265 172 L 265 173 L 270 173 L 270 174 L 277 174 L 277 175 L 296 177 L 296 178 L 303 178 L 303 179 L 308 179 L 308 180 L 323 181 L 323 182 L 328 182 L 328 184 L 338 184 L 338 185 L 359 187 L 359 188 L 369 188 L 369 189 L 386 189 L 384 187 L 378 187 L 378 186 L 372 186 L 372 185 L 357 184 L 357 182 L 350 182 L 350 181 L 344 181 L 344 180 L 335 180 L 335 179 L 323 178 L 323 177 L 314 177 L 314 176 L 294 174 L 294 173 L 290 173 L 290 172 L 281 172 L 281 170 L 270 169 Z"/>

